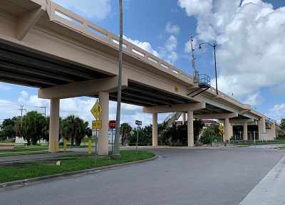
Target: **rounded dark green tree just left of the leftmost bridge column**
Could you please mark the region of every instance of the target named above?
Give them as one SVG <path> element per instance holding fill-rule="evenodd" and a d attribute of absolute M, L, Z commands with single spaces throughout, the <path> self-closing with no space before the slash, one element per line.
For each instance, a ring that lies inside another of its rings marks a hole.
<path fill-rule="evenodd" d="M 36 144 L 38 140 L 42 139 L 44 127 L 46 127 L 46 118 L 41 113 L 37 111 L 27 112 L 17 123 L 19 124 L 16 127 L 19 128 L 18 131 L 28 145 Z"/>

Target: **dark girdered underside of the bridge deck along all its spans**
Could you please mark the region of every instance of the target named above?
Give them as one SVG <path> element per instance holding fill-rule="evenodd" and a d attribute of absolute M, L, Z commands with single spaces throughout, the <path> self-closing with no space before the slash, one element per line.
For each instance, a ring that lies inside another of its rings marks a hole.
<path fill-rule="evenodd" d="M 1 82 L 26 85 L 33 88 L 49 88 L 56 85 L 108 77 L 110 75 L 84 68 L 75 63 L 67 63 L 56 58 L 0 43 Z M 117 101 L 117 95 L 118 93 L 110 93 L 110 100 Z M 89 97 L 98 98 L 98 95 Z M 128 82 L 128 88 L 122 90 L 122 102 L 142 107 L 194 103 L 194 101 L 187 98 L 181 98 L 172 93 L 130 81 Z M 229 111 L 208 103 L 206 103 L 206 108 L 194 111 L 194 115 L 217 113 L 229 113 Z M 243 116 L 237 118 L 243 118 Z"/>

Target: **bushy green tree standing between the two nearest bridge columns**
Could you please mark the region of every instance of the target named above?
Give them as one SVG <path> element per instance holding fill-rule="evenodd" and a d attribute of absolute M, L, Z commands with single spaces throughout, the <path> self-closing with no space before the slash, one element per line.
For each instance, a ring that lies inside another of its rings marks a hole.
<path fill-rule="evenodd" d="M 88 122 L 84 122 L 80 117 L 76 117 L 75 115 L 69 115 L 62 120 L 60 133 L 66 140 L 71 139 L 72 146 L 74 145 L 74 140 L 76 140 L 76 145 L 79 146 L 86 134 L 87 128 Z"/>

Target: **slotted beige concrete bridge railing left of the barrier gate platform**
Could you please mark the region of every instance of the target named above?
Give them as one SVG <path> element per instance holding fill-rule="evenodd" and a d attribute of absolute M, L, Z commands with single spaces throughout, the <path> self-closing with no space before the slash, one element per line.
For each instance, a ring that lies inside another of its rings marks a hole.
<path fill-rule="evenodd" d="M 111 33 L 110 31 L 98 26 L 91 21 L 88 21 L 87 19 L 84 19 L 78 14 L 69 11 L 63 6 L 54 3 L 53 1 L 46 0 L 46 4 L 49 8 L 47 11 L 49 12 L 51 21 L 62 23 L 64 26 L 73 28 L 76 31 L 83 33 L 84 35 L 89 36 L 90 38 L 95 38 L 96 40 L 107 43 L 109 46 L 118 48 L 119 36 Z M 129 53 L 131 56 L 140 58 L 140 60 L 153 65 L 155 68 L 158 68 L 165 73 L 174 75 L 175 77 L 180 78 L 181 80 L 184 80 L 185 82 L 193 85 L 192 75 L 185 73 L 184 71 L 176 68 L 166 61 L 161 60 L 160 58 L 157 58 L 157 56 L 148 53 L 147 51 L 138 46 L 135 46 L 133 43 L 130 43 L 125 39 L 123 39 L 123 51 Z"/>

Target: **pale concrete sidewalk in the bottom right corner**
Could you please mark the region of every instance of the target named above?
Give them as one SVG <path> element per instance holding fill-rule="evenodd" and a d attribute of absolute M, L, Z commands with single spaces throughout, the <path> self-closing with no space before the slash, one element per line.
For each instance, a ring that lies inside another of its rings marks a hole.
<path fill-rule="evenodd" d="M 244 197 L 239 205 L 285 204 L 285 156 Z"/>

